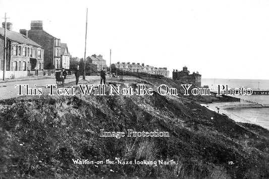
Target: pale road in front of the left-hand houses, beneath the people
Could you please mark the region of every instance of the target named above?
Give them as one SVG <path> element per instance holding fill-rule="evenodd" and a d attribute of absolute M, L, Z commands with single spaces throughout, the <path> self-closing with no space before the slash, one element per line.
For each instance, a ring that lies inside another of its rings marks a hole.
<path fill-rule="evenodd" d="M 65 79 L 66 86 L 75 85 L 75 76 L 67 76 Z M 86 76 L 87 81 L 83 81 L 83 83 L 87 82 L 88 84 L 99 84 L 100 76 Z M 82 77 L 79 78 L 79 83 L 82 82 Z M 46 84 L 56 84 L 55 77 L 51 78 L 42 78 L 42 79 L 23 79 L 16 81 L 7 81 L 0 83 L 0 100 L 10 99 L 19 97 L 19 86 L 15 88 L 16 84 L 28 84 L 30 88 L 42 88 L 42 93 L 46 94 L 49 92 L 49 88 L 46 88 Z M 35 86 L 36 85 L 36 86 Z M 22 93 L 26 94 L 26 88 L 22 86 Z"/>

